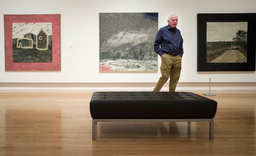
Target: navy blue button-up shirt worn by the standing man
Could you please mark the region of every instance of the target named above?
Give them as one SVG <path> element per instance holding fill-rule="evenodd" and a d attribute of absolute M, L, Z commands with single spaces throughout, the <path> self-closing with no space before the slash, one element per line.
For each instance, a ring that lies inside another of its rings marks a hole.
<path fill-rule="evenodd" d="M 163 52 L 166 52 L 179 53 L 179 55 L 182 57 L 183 39 L 181 37 L 180 30 L 176 27 L 171 28 L 169 25 L 160 28 L 156 36 L 154 49 L 155 52 L 160 56 L 163 55 Z"/>

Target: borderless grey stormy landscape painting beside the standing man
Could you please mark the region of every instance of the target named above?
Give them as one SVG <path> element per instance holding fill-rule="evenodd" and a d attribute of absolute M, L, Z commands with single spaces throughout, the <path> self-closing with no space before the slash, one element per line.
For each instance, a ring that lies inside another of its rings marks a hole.
<path fill-rule="evenodd" d="M 158 71 L 158 13 L 99 13 L 99 71 Z"/>

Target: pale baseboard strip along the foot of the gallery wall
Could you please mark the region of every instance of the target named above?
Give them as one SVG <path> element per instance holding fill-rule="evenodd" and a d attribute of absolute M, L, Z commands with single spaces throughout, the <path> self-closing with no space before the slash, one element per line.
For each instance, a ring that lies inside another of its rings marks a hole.
<path fill-rule="evenodd" d="M 153 90 L 156 83 L 0 83 L 0 90 Z M 168 90 L 166 83 L 162 90 Z M 181 82 L 176 90 L 208 90 L 206 82 Z M 256 90 L 256 82 L 213 82 L 211 90 Z"/>

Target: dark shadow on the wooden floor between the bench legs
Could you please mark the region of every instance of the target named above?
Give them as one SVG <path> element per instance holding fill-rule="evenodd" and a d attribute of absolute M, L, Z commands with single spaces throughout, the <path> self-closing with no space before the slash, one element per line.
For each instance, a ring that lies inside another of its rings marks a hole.
<path fill-rule="evenodd" d="M 196 125 L 193 126 L 195 129 Z M 206 129 L 207 131 L 208 129 Z M 98 122 L 96 137 L 102 138 L 151 138 L 158 136 L 190 138 L 191 124 L 187 122 Z"/>

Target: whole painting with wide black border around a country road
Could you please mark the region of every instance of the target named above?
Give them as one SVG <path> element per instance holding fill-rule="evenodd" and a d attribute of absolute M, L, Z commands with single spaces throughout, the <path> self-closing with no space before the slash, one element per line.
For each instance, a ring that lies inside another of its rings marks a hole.
<path fill-rule="evenodd" d="M 197 71 L 255 71 L 256 13 L 197 14 Z"/>

